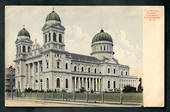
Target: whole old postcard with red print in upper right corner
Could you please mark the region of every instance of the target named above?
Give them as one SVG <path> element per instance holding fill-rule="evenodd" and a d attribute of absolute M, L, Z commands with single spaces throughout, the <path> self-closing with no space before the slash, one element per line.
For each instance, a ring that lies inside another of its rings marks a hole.
<path fill-rule="evenodd" d="M 5 68 L 7 107 L 163 107 L 164 7 L 5 6 Z"/>

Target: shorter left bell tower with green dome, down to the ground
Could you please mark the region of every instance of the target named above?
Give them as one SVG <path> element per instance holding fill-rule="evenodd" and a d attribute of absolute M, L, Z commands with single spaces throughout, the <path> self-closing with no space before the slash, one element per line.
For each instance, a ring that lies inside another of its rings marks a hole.
<path fill-rule="evenodd" d="M 31 53 L 32 40 L 29 32 L 23 27 L 17 36 L 16 44 L 16 60 L 15 60 L 15 86 L 19 91 L 24 91 L 26 88 L 26 64 L 25 60 Z"/>

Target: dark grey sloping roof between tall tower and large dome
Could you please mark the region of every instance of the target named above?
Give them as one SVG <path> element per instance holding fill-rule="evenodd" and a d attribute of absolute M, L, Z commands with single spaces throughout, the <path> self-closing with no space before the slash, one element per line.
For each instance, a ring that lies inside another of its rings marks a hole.
<path fill-rule="evenodd" d="M 100 62 L 99 59 L 93 56 L 80 55 L 80 54 L 75 54 L 75 53 L 70 53 L 70 55 L 71 55 L 72 60 L 86 61 L 86 62 Z"/>

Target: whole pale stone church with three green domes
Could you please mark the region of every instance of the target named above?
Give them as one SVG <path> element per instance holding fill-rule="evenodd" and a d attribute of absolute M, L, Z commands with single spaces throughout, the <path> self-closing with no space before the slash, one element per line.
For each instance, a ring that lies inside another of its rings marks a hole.
<path fill-rule="evenodd" d="M 16 89 L 73 92 L 84 87 L 86 91 L 102 92 L 123 89 L 126 85 L 137 87 L 138 78 L 130 76 L 129 66 L 114 58 L 110 34 L 103 29 L 95 34 L 88 56 L 65 50 L 64 31 L 54 10 L 42 27 L 42 46 L 31 40 L 31 34 L 25 28 L 19 31 L 14 60 Z"/>

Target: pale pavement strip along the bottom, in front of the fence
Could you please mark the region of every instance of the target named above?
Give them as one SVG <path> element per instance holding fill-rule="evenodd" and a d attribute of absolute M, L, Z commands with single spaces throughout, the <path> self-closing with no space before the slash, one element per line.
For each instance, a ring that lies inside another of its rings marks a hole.
<path fill-rule="evenodd" d="M 141 107 L 136 104 L 103 104 L 103 103 L 86 103 L 73 101 L 52 101 L 40 99 L 23 99 L 14 98 L 6 99 L 5 106 L 8 107 Z"/>

